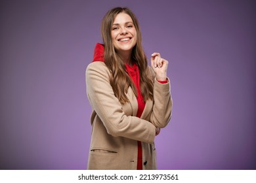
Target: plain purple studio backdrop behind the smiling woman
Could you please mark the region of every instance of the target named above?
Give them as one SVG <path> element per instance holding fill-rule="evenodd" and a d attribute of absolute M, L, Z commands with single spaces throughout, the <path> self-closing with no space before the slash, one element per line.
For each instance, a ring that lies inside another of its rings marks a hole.
<path fill-rule="evenodd" d="M 1 1 L 0 168 L 86 169 L 85 68 L 112 7 L 168 59 L 159 169 L 256 169 L 255 1 Z"/>

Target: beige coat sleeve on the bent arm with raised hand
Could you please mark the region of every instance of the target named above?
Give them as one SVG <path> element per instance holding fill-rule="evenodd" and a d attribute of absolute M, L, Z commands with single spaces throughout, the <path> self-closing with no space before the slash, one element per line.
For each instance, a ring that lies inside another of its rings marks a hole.
<path fill-rule="evenodd" d="M 171 86 L 169 78 L 166 84 L 160 84 L 155 78 L 154 71 L 149 67 L 150 74 L 154 80 L 154 103 L 150 114 L 150 122 L 156 127 L 165 127 L 171 120 L 173 99 L 171 97 Z"/>

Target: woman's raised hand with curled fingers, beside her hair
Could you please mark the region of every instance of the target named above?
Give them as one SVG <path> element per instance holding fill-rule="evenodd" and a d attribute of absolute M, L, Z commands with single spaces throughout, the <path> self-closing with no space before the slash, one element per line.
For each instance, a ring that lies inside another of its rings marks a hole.
<path fill-rule="evenodd" d="M 151 67 L 156 73 L 156 80 L 166 80 L 168 61 L 161 58 L 160 53 L 154 53 L 151 56 Z"/>

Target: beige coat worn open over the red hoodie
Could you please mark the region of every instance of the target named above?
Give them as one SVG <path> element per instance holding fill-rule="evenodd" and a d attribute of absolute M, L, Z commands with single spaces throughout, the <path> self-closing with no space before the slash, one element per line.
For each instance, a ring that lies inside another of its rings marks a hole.
<path fill-rule="evenodd" d="M 154 101 L 146 101 L 141 118 L 131 87 L 129 103 L 121 105 L 110 85 L 110 71 L 102 61 L 90 63 L 86 70 L 87 97 L 91 114 L 91 147 L 88 169 L 137 169 L 137 141 L 142 142 L 143 169 L 156 169 L 154 139 L 156 127 L 171 119 L 173 102 L 170 84 L 154 81 Z M 154 79 L 154 71 L 148 67 Z"/>

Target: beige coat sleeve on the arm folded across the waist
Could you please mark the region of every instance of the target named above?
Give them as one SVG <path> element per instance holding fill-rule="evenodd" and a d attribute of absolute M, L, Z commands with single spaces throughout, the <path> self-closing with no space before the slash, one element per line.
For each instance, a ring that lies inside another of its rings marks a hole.
<path fill-rule="evenodd" d="M 126 116 L 110 85 L 110 71 L 104 62 L 90 63 L 86 70 L 87 97 L 93 110 L 114 137 L 154 142 L 156 127 L 136 116 Z"/>

